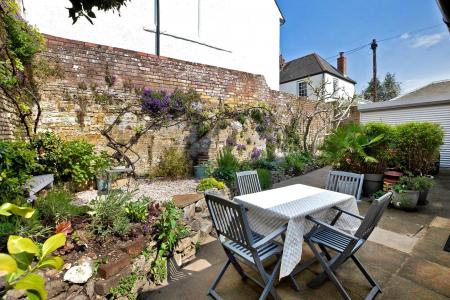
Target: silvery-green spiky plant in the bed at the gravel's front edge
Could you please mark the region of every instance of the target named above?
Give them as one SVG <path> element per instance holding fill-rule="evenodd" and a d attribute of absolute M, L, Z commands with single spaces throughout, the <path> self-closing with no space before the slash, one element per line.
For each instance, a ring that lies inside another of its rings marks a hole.
<path fill-rule="evenodd" d="M 105 238 L 112 234 L 125 235 L 130 230 L 125 204 L 130 202 L 133 194 L 130 192 L 110 191 L 106 196 L 97 197 L 92 201 L 91 231 Z"/>

